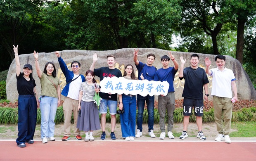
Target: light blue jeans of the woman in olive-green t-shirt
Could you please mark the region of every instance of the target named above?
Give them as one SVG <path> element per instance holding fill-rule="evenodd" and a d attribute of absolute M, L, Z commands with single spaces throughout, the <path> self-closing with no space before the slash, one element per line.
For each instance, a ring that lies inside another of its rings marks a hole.
<path fill-rule="evenodd" d="M 53 137 L 55 130 L 55 115 L 58 105 L 58 98 L 41 97 L 41 138 Z"/>

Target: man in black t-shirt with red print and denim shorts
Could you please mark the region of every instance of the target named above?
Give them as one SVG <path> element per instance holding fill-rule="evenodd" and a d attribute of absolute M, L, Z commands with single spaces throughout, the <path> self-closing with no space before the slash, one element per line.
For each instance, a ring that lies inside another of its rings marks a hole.
<path fill-rule="evenodd" d="M 114 67 L 116 63 L 116 58 L 113 55 L 107 56 L 107 67 L 101 67 L 98 69 L 94 69 L 95 63 L 99 58 L 97 58 L 97 54 L 93 56 L 93 62 L 90 67 L 90 70 L 94 71 L 95 76 L 100 77 L 100 81 L 103 80 L 104 77 L 121 77 L 122 73 L 119 69 Z M 111 115 L 111 140 L 116 140 L 116 136 L 114 134 L 115 126 L 116 126 L 116 108 L 117 108 L 117 94 L 103 93 L 100 92 L 100 97 L 102 98 L 100 102 L 100 114 L 101 114 L 101 127 L 102 127 L 102 135 L 100 137 L 101 140 L 105 140 L 106 133 L 105 133 L 105 125 L 106 125 L 106 114 L 107 114 L 107 107 L 109 107 L 109 114 Z M 122 102 L 120 102 L 122 105 Z M 119 105 L 119 106 L 120 106 Z"/>

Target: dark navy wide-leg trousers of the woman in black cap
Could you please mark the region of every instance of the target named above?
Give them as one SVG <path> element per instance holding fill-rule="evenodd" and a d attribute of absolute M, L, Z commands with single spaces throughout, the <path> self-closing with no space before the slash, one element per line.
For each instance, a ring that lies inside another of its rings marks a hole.
<path fill-rule="evenodd" d="M 37 102 L 34 95 L 19 95 L 17 144 L 33 140 L 36 130 Z"/>

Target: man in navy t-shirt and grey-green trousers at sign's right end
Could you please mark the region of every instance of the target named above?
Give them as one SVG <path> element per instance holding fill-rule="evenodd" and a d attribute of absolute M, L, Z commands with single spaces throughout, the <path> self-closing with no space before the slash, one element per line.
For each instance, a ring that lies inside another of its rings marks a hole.
<path fill-rule="evenodd" d="M 154 81 L 167 81 L 169 83 L 169 89 L 166 96 L 159 95 L 158 96 L 158 112 L 159 112 L 159 125 L 161 134 L 159 139 L 164 140 L 166 134 L 165 134 L 165 114 L 167 110 L 168 115 L 168 137 L 169 139 L 174 139 L 173 133 L 171 132 L 173 129 L 173 112 L 175 109 L 175 95 L 174 95 L 174 87 L 173 87 L 173 80 L 174 76 L 178 71 L 179 64 L 176 62 L 173 54 L 171 52 L 168 52 L 169 56 L 171 57 L 171 60 L 173 61 L 174 66 L 170 67 L 170 57 L 167 55 L 164 55 L 161 57 L 161 62 L 163 65 L 163 68 L 158 69 L 154 76 Z"/>

